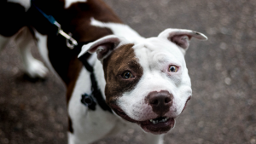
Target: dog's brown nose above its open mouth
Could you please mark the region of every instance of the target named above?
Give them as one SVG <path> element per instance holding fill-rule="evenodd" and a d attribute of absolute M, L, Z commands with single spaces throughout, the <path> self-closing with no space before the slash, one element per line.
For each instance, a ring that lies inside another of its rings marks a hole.
<path fill-rule="evenodd" d="M 153 112 L 159 116 L 164 116 L 166 112 L 172 107 L 173 95 L 166 90 L 160 92 L 154 91 L 148 94 L 146 97 L 146 103 L 150 105 Z"/>

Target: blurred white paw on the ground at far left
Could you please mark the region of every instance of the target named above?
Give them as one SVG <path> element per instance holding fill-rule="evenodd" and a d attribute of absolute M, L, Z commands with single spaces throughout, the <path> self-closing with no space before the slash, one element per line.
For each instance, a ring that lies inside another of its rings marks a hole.
<path fill-rule="evenodd" d="M 36 59 L 28 61 L 24 68 L 30 78 L 45 78 L 49 72 L 44 64 Z"/>

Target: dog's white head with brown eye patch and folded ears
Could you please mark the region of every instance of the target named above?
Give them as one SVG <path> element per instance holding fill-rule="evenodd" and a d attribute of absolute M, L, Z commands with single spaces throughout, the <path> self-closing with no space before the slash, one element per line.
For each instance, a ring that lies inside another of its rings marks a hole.
<path fill-rule="evenodd" d="M 166 29 L 139 43 L 111 35 L 84 45 L 79 55 L 96 52 L 102 61 L 106 101 L 114 112 L 147 132 L 162 134 L 173 128 L 192 95 L 184 60 L 191 37 L 207 39 L 180 29 Z"/>

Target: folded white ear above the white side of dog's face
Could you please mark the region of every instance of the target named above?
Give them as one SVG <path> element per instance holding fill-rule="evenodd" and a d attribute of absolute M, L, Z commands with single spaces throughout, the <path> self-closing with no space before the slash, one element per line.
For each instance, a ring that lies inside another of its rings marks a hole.
<path fill-rule="evenodd" d="M 172 43 L 176 43 L 177 46 L 183 49 L 183 52 L 185 52 L 189 48 L 189 41 L 191 37 L 195 37 L 200 40 L 208 39 L 207 36 L 200 32 L 172 28 L 166 29 L 165 31 L 161 32 L 158 37 L 167 38 Z"/>

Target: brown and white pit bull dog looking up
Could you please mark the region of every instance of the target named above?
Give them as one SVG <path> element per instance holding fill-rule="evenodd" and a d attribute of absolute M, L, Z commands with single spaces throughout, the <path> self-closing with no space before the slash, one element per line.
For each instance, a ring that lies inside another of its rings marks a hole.
<path fill-rule="evenodd" d="M 205 35 L 169 28 L 142 37 L 102 0 L 3 0 L 0 11 L 0 49 L 14 39 L 24 72 L 44 78 L 48 69 L 29 49 L 36 42 L 66 84 L 69 144 L 89 144 L 134 126 L 145 131 L 145 143 L 163 143 L 192 95 L 184 60 L 189 40 L 207 40 Z M 77 49 L 68 49 L 45 14 L 78 42 Z"/>

